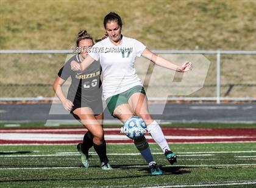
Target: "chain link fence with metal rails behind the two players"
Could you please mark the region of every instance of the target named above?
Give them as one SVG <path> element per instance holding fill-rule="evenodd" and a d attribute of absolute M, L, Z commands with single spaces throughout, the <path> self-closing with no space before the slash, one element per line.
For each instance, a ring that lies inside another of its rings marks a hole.
<path fill-rule="evenodd" d="M 149 99 L 255 101 L 256 51 L 154 52 L 180 65 L 190 60 L 194 72 L 187 78 L 187 73 L 159 68 L 138 58 L 135 68 Z M 72 55 L 70 50 L 0 50 L 1 101 L 54 99 L 52 84 Z M 69 81 L 64 90 L 68 86 Z"/>

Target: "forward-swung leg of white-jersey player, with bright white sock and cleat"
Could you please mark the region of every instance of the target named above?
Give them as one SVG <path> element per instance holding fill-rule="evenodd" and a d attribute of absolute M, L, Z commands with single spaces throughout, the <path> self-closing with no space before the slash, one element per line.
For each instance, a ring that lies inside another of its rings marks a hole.
<path fill-rule="evenodd" d="M 161 127 L 158 125 L 157 121 L 155 121 L 149 114 L 148 99 L 146 96 L 143 93 L 133 93 L 130 96 L 128 102 L 129 106 L 132 107 L 135 115 L 140 116 L 145 121 L 148 131 L 158 146 L 160 146 L 165 153 L 169 163 L 176 163 L 176 154 L 171 152 Z"/>

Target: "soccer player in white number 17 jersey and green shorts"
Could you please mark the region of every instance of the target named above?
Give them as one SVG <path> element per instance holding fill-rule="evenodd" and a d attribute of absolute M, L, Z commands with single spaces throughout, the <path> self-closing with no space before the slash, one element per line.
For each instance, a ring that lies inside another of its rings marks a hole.
<path fill-rule="evenodd" d="M 176 154 L 171 152 L 161 127 L 149 114 L 146 92 L 133 65 L 135 59 L 140 56 L 177 72 L 191 70 L 192 64 L 187 61 L 179 67 L 155 55 L 140 41 L 121 35 L 122 25 L 118 14 L 108 13 L 104 18 L 104 27 L 108 37 L 95 44 L 82 63 L 71 62 L 71 69 L 84 70 L 93 61 L 100 61 L 104 75 L 103 95 L 110 113 L 123 123 L 132 116 L 140 116 L 145 121 L 152 138 L 165 153 L 169 163 L 173 164 L 176 162 Z M 143 136 L 143 138 L 134 139 L 134 144 L 148 162 L 151 174 L 161 175 L 162 171 L 152 157 L 146 138 Z"/>

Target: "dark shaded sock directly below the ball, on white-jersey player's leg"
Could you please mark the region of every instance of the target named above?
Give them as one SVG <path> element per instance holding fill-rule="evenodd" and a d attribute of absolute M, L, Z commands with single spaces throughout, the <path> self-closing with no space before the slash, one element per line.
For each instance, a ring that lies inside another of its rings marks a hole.
<path fill-rule="evenodd" d="M 143 136 L 143 138 L 134 139 L 134 144 L 148 164 L 154 161 L 151 154 L 151 149 L 145 136 Z"/>

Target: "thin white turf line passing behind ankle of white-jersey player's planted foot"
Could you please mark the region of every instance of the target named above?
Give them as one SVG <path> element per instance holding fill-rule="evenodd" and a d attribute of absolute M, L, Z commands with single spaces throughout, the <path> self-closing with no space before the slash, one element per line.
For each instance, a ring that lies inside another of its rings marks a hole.
<path fill-rule="evenodd" d="M 256 164 L 188 164 L 188 165 L 165 165 L 165 167 L 225 167 L 225 166 L 256 166 Z M 119 167 L 122 167 L 121 165 Z M 130 165 L 125 167 L 148 167 L 148 165 Z M 40 170 L 40 169 L 76 169 L 81 167 L 25 167 L 25 168 L 0 168 L 0 170 Z"/>

